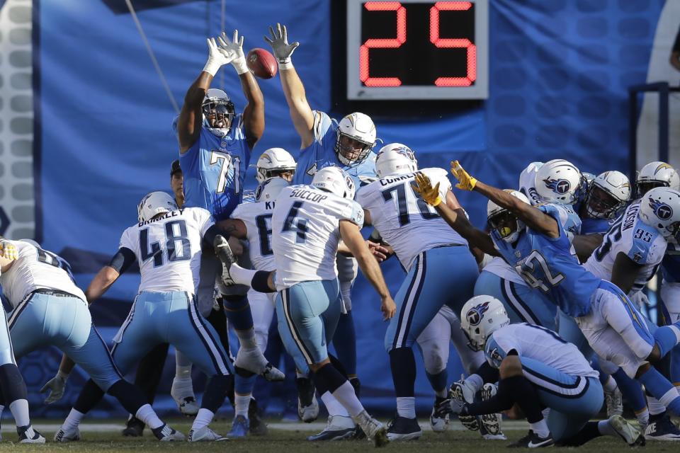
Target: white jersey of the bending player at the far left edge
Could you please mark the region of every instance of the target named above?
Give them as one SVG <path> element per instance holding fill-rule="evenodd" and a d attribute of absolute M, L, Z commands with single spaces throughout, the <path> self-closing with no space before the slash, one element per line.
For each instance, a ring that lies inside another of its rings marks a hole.
<path fill-rule="evenodd" d="M 55 289 L 85 300 L 73 281 L 71 266 L 63 258 L 28 242 L 5 241 L 13 243 L 19 254 L 11 268 L 0 275 L 2 290 L 13 307 L 36 289 Z"/>

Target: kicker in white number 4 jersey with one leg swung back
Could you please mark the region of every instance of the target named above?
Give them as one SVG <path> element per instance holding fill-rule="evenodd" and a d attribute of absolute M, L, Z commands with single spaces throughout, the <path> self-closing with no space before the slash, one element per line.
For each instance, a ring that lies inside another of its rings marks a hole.
<path fill-rule="evenodd" d="M 395 302 L 387 290 L 378 262 L 366 246 L 359 229 L 363 210 L 353 201 L 354 185 L 337 167 L 319 170 L 311 185 L 293 185 L 281 190 L 276 199 L 271 228 L 276 263 L 276 312 L 282 338 L 292 338 L 314 372 L 320 394 L 330 392 L 348 411 L 376 447 L 387 442 L 387 430 L 371 418 L 359 402 L 353 386 L 329 360 L 326 345 L 340 315 L 340 294 L 334 266 L 342 239 L 357 258 L 359 267 L 381 299 L 385 319 L 395 314 Z M 220 240 L 221 239 L 221 240 Z M 244 270 L 233 263 L 226 241 L 217 236 L 218 255 L 236 283 L 257 290 L 273 290 L 273 273 Z"/>

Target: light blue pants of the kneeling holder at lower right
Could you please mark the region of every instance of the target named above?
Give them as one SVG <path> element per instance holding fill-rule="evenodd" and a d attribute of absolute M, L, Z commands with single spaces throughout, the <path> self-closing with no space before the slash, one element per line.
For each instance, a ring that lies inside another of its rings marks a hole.
<path fill-rule="evenodd" d="M 524 377 L 550 408 L 548 428 L 556 442 L 577 434 L 602 408 L 604 394 L 596 377 L 572 376 L 543 362 L 520 357 Z"/>

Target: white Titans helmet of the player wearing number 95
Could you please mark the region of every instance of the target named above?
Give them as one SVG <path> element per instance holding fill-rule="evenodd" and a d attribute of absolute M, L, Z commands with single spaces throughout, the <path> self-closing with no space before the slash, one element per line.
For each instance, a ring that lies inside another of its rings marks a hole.
<path fill-rule="evenodd" d="M 640 202 L 640 219 L 654 226 L 664 238 L 680 241 L 680 191 L 657 187 L 645 193 Z"/>

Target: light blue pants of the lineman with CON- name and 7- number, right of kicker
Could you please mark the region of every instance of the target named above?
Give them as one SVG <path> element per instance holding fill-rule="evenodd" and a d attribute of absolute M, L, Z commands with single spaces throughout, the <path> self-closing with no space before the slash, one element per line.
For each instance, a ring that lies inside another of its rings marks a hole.
<path fill-rule="evenodd" d="M 397 313 L 385 333 L 385 350 L 410 348 L 444 304 L 460 314 L 478 275 L 477 262 L 466 246 L 421 252 L 395 297 Z"/>

